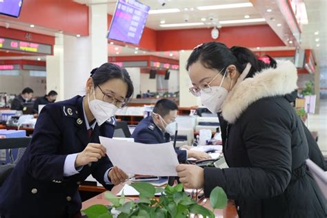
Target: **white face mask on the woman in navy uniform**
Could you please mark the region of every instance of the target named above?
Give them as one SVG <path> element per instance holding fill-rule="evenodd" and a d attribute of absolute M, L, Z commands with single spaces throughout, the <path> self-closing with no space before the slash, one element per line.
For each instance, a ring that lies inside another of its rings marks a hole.
<path fill-rule="evenodd" d="M 88 95 L 88 108 L 90 108 L 92 115 L 95 116 L 98 125 L 101 126 L 110 117 L 115 116 L 118 108 L 112 103 L 95 99 L 95 89 L 93 89 L 93 97 L 94 99 L 90 100 L 90 95 Z"/>

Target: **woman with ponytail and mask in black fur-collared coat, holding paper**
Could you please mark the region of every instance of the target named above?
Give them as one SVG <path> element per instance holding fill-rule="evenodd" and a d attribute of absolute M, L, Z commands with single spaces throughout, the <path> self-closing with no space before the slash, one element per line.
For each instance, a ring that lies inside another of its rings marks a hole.
<path fill-rule="evenodd" d="M 288 100 L 297 69 L 269 59 L 218 42 L 192 51 L 190 92 L 218 113 L 229 168 L 180 164 L 177 175 L 184 188 L 204 188 L 206 196 L 220 186 L 242 218 L 326 217 L 326 199 L 306 167 L 304 128 Z"/>

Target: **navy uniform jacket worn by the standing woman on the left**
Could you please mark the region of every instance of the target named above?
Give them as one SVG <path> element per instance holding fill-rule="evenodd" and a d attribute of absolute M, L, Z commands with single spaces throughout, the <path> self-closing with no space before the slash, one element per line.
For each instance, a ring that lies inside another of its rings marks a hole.
<path fill-rule="evenodd" d="M 81 152 L 99 135 L 112 137 L 115 120 L 95 126 L 89 139 L 83 115 L 83 97 L 45 106 L 37 119 L 32 141 L 0 187 L 0 215 L 6 218 L 70 217 L 81 209 L 78 188 L 92 174 L 105 188 L 103 176 L 112 167 L 108 156 L 83 166 L 76 175 L 63 177 L 68 154 Z"/>

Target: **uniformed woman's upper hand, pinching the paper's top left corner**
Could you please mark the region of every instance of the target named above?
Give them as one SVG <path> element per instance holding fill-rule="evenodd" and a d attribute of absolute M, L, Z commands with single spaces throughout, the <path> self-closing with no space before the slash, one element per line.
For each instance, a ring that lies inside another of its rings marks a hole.
<path fill-rule="evenodd" d="M 106 156 L 106 148 L 99 143 L 88 143 L 88 146 L 80 152 L 75 160 L 75 168 L 84 166 L 90 162 L 97 162 Z"/>

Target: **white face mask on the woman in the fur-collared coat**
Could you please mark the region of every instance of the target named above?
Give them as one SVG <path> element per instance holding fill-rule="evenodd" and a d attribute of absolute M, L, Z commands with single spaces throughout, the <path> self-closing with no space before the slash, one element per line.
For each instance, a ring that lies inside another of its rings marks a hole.
<path fill-rule="evenodd" d="M 221 85 L 224 82 L 225 76 L 226 76 L 227 69 L 224 73 L 224 77 L 221 80 L 220 86 L 212 86 L 211 92 L 204 92 L 203 90 L 200 90 L 201 93 L 201 103 L 210 110 L 213 114 L 219 112 L 221 110 L 221 105 L 225 101 L 228 90 L 226 88 L 221 87 Z M 230 83 L 230 86 L 232 83 Z"/>

